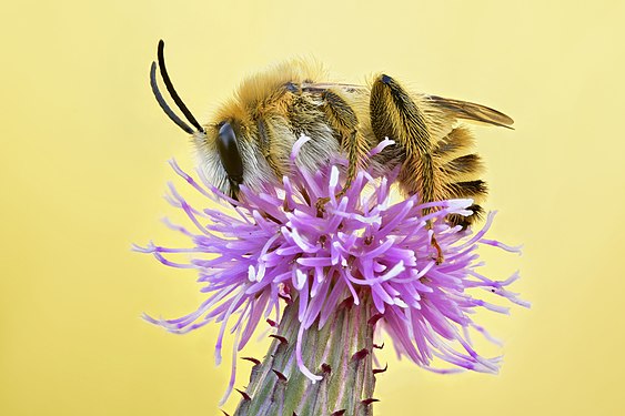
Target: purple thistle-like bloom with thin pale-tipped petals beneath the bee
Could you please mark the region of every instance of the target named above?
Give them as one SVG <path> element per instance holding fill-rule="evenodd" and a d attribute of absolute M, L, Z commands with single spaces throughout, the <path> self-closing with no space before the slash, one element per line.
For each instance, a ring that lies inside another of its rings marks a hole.
<path fill-rule="evenodd" d="M 451 200 L 420 204 L 417 196 L 393 202 L 390 193 L 395 175 L 374 179 L 361 171 L 344 196 L 336 200 L 341 174 L 336 166 L 315 173 L 295 163 L 295 155 L 308 138 L 293 149 L 292 173 L 283 177 L 283 186 L 268 186 L 260 193 L 241 187 L 242 201 L 230 200 L 215 187 L 199 183 L 175 162 L 173 170 L 192 187 L 222 204 L 222 211 L 198 210 L 170 184 L 170 202 L 182 209 L 193 230 L 169 224 L 192 242 L 190 248 L 168 248 L 150 243 L 135 247 L 152 253 L 161 263 L 195 268 L 198 282 L 208 298 L 200 307 L 177 319 L 144 318 L 172 333 L 187 333 L 206 323 L 220 323 L 215 359 L 221 362 L 222 341 L 230 327 L 235 333 L 233 371 L 236 352 L 248 344 L 261 319 L 280 322 L 281 298 L 299 298 L 300 332 L 295 347 L 299 368 L 313 382 L 313 374 L 302 359 L 302 336 L 313 325 L 323 327 L 331 312 L 345 298 L 359 304 L 371 296 L 380 318 L 377 328 L 393 339 L 400 355 L 434 372 L 461 369 L 496 373 L 500 358 L 485 358 L 471 346 L 468 329 L 496 342 L 473 322 L 480 307 L 497 313 L 507 308 L 474 297 L 480 291 L 528 306 L 507 286 L 518 278 L 494 281 L 477 272 L 482 265 L 480 245 L 492 245 L 518 252 L 485 237 L 494 214 L 487 216 L 482 230 L 451 227 L 450 214 L 470 215 L 471 200 Z M 392 144 L 386 140 L 371 154 Z M 330 197 L 323 215 L 316 201 Z M 424 209 L 432 207 L 424 215 Z M 444 262 L 436 264 L 432 235 L 443 252 Z M 188 263 L 169 260 L 171 253 L 189 253 Z M 487 295 L 491 296 L 492 295 Z M 434 368 L 437 357 L 453 368 Z"/>

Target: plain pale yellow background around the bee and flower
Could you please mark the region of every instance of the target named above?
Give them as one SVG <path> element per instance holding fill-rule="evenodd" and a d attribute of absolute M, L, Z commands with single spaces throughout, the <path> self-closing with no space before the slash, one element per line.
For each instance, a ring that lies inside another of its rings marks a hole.
<path fill-rule="evenodd" d="M 173 213 L 165 161 L 192 164 L 149 88 L 160 38 L 202 122 L 293 55 L 511 114 L 515 131 L 476 133 L 492 235 L 525 250 L 485 255 L 500 277 L 521 268 L 533 307 L 478 316 L 505 341 L 498 376 L 433 375 L 389 349 L 375 413 L 625 414 L 624 17 L 623 1 L 3 2 L 0 414 L 219 414 L 216 327 L 174 336 L 139 318 L 202 298 L 193 273 L 130 251 L 183 243 L 159 222 Z"/>

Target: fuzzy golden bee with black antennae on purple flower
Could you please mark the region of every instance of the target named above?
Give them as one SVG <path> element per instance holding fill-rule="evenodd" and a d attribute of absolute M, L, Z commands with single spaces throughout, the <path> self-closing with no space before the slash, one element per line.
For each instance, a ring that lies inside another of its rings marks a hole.
<path fill-rule="evenodd" d="M 320 68 L 292 61 L 243 81 L 233 99 L 201 125 L 177 93 L 158 47 L 158 67 L 181 120 L 167 104 L 152 62 L 152 91 L 167 115 L 192 135 L 200 168 L 222 192 L 236 200 L 240 186 L 260 190 L 289 174 L 293 144 L 305 134 L 312 140 L 298 162 L 314 172 L 341 155 L 347 160 L 344 190 L 362 168 L 383 175 L 399 168 L 397 182 L 421 202 L 470 197 L 470 216 L 448 215 L 452 225 L 470 226 L 483 213 L 486 184 L 483 163 L 473 153 L 474 139 L 465 121 L 510 128 L 513 120 L 491 108 L 406 90 L 387 74 L 367 85 L 326 81 Z M 395 145 L 374 158 L 367 152 L 390 138 Z M 437 245 L 435 241 L 433 245 Z M 437 248 L 440 251 L 440 248 Z M 438 253 L 441 254 L 441 253 Z"/>

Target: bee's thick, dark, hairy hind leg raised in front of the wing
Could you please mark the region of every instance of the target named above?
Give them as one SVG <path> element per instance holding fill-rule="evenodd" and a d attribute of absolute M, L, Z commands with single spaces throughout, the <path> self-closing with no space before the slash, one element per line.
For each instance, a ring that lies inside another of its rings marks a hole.
<path fill-rule="evenodd" d="M 410 195 L 419 194 L 423 203 L 435 201 L 440 192 L 432 158 L 434 146 L 425 115 L 413 98 L 394 79 L 381 74 L 371 88 L 370 116 L 375 138 L 394 140 L 405 153 L 399 176 L 402 187 Z M 424 210 L 423 214 L 430 211 Z M 432 229 L 431 222 L 427 227 Z M 432 246 L 436 250 L 436 264 L 441 264 L 443 251 L 434 235 Z"/>

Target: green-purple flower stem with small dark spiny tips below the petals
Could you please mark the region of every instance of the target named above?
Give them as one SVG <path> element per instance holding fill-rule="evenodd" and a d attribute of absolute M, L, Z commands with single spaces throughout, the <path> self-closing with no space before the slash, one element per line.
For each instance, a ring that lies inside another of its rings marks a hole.
<path fill-rule="evenodd" d="M 250 384 L 235 416 L 317 416 L 373 414 L 375 376 L 372 368 L 372 305 L 369 296 L 354 305 L 342 302 L 319 329 L 304 332 L 302 357 L 311 372 L 323 377 L 312 383 L 298 367 L 295 346 L 300 321 L 298 301 L 284 310 L 278 334 Z"/>

